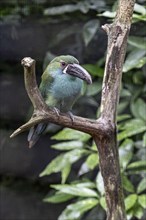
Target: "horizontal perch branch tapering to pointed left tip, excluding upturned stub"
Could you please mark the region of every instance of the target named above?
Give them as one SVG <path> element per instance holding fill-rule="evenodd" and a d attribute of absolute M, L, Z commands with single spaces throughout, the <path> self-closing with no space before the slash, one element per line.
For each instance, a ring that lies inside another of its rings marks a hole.
<path fill-rule="evenodd" d="M 54 113 L 52 109 L 45 110 L 43 113 L 37 111 L 38 116 L 32 117 L 26 124 L 20 126 L 17 130 L 15 130 L 11 134 L 11 138 L 15 137 L 16 135 L 22 133 L 23 131 L 31 128 L 33 125 L 45 122 L 52 122 L 58 125 L 62 125 L 65 127 L 69 127 L 75 130 L 79 130 L 90 135 L 99 135 L 99 136 L 108 136 L 108 125 L 104 123 L 104 120 L 90 120 L 83 117 L 74 116 L 74 121 L 68 117 L 66 114 L 60 114 L 59 116 Z"/>

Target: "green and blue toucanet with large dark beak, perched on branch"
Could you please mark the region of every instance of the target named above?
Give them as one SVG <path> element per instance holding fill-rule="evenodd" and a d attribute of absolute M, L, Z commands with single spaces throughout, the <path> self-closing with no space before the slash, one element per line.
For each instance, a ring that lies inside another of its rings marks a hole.
<path fill-rule="evenodd" d="M 92 83 L 90 74 L 79 65 L 79 61 L 70 55 L 54 58 L 42 75 L 40 91 L 45 103 L 52 107 L 57 114 L 71 113 L 72 107 L 81 95 L 83 80 Z M 29 147 L 31 148 L 47 127 L 47 123 L 33 126 L 28 134 Z"/>

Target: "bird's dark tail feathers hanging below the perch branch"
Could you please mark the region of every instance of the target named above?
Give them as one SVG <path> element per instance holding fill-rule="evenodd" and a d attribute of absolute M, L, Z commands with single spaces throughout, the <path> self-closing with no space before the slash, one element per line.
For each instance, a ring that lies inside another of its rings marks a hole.
<path fill-rule="evenodd" d="M 35 143 L 40 138 L 41 134 L 45 131 L 46 127 L 47 127 L 46 123 L 40 123 L 38 125 L 31 127 L 27 137 L 27 140 L 29 142 L 29 148 L 35 145 Z"/>

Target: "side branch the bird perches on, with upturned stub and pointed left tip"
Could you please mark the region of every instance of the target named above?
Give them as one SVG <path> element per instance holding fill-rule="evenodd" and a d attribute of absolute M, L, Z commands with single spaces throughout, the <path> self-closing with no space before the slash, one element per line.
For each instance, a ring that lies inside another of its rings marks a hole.
<path fill-rule="evenodd" d="M 25 57 L 21 61 L 21 64 L 24 67 L 25 88 L 33 104 L 34 113 L 26 124 L 20 126 L 16 131 L 13 132 L 13 134 L 11 134 L 11 138 L 42 121 L 56 123 L 62 126 L 83 131 L 90 135 L 99 134 L 102 136 L 105 135 L 105 133 L 108 135 L 108 124 L 106 125 L 103 119 L 90 120 L 87 118 L 74 116 L 74 120 L 72 121 L 67 114 L 56 114 L 46 105 L 38 89 L 35 76 L 35 61 L 30 57 Z"/>

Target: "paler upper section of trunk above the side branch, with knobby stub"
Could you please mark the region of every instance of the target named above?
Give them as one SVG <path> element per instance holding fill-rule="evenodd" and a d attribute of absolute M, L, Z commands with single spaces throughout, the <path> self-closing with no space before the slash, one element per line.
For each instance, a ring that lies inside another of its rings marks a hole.
<path fill-rule="evenodd" d="M 103 79 L 101 116 L 113 126 L 116 123 L 122 68 L 134 3 L 135 0 L 119 0 L 114 22 L 102 26 L 108 35 L 108 48 Z"/>

